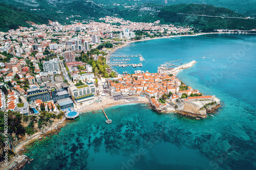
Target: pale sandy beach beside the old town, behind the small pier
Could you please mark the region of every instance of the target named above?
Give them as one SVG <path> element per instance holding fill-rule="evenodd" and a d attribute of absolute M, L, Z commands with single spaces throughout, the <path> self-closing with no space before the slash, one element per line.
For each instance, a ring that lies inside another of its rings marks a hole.
<path fill-rule="evenodd" d="M 118 106 L 118 105 L 125 105 L 125 104 L 130 104 L 130 103 L 149 103 L 150 100 L 148 98 L 139 96 L 139 100 L 137 101 L 127 101 L 125 99 L 123 100 L 118 100 L 115 101 L 114 99 L 103 99 L 101 103 L 93 103 L 91 105 L 88 105 L 84 108 L 78 109 L 79 112 L 87 112 L 87 111 L 93 111 L 93 110 L 100 110 L 102 108 L 109 108 L 113 106 Z"/>

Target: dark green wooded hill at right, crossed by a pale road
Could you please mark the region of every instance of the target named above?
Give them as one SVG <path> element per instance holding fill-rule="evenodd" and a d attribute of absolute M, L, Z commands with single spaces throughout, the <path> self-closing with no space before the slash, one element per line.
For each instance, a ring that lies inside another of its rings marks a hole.
<path fill-rule="evenodd" d="M 211 5 L 179 4 L 167 6 L 161 9 L 158 17 L 162 23 L 175 23 L 181 26 L 189 25 L 206 30 L 250 30 L 256 28 L 256 20 L 243 19 L 245 16 L 242 14 L 227 8 L 218 8 Z"/>

